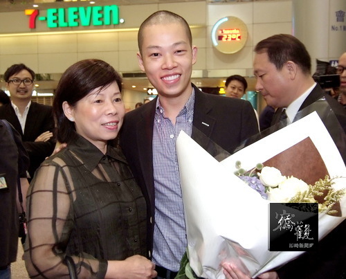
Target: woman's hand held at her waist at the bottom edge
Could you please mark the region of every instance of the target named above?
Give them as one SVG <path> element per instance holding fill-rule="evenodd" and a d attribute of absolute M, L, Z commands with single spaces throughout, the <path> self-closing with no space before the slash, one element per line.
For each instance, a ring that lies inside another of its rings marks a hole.
<path fill-rule="evenodd" d="M 126 260 L 109 260 L 106 278 L 143 279 L 155 278 L 155 264 L 141 255 Z"/>

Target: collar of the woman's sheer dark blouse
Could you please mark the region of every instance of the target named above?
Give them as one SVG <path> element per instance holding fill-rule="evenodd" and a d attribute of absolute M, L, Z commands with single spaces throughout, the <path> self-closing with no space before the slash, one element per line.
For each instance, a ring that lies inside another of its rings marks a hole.
<path fill-rule="evenodd" d="M 78 156 L 90 172 L 92 172 L 104 158 L 112 158 L 127 164 L 125 156 L 117 148 L 108 145 L 106 154 L 103 154 L 98 147 L 95 147 L 90 141 L 77 133 L 75 140 L 68 142 L 66 148 Z"/>

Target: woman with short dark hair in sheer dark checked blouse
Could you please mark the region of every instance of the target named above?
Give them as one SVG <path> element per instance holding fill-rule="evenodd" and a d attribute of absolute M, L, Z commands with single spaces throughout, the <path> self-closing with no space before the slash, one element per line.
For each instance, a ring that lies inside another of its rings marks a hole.
<path fill-rule="evenodd" d="M 67 147 L 42 163 L 27 196 L 31 277 L 156 276 L 145 258 L 145 199 L 110 145 L 125 115 L 121 82 L 102 60 L 82 60 L 62 75 L 53 111 Z"/>

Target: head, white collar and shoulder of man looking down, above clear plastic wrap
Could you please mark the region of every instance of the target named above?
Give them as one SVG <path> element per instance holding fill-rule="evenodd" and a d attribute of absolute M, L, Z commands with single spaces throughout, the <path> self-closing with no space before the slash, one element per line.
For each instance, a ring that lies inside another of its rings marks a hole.
<path fill-rule="evenodd" d="M 325 98 L 346 132 L 346 114 L 311 76 L 311 58 L 304 44 L 292 35 L 273 35 L 255 46 L 253 69 L 255 89 L 267 105 L 277 107 L 273 124 L 284 110 L 289 122 L 297 120 L 298 111 Z M 300 116 L 301 117 L 301 116 Z"/>

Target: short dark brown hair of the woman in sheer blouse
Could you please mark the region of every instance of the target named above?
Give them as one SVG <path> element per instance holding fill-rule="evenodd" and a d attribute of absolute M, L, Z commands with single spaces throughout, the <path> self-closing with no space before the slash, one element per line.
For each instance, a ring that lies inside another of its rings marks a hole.
<path fill-rule="evenodd" d="M 107 62 L 97 59 L 81 60 L 70 66 L 60 78 L 53 101 L 53 114 L 57 125 L 57 140 L 67 143 L 75 138 L 75 124 L 66 118 L 62 104 L 71 107 L 94 89 L 107 88 L 116 82 L 122 91 L 120 74 Z"/>

